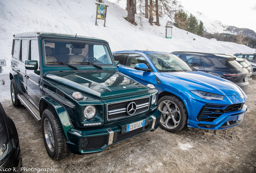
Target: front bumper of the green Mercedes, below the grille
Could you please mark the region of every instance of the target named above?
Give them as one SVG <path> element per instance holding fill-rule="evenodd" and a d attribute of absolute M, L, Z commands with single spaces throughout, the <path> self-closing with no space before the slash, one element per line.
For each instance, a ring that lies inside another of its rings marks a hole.
<path fill-rule="evenodd" d="M 154 131 L 159 126 L 161 112 L 158 110 L 148 114 L 122 121 L 111 125 L 104 125 L 99 129 L 87 129 L 80 131 L 71 129 L 68 132 L 68 148 L 75 154 L 87 154 L 103 151 L 107 146 L 113 145 L 125 139 L 140 135 L 147 131 Z M 131 123 L 145 120 L 145 126 L 126 132 L 126 126 Z"/>

